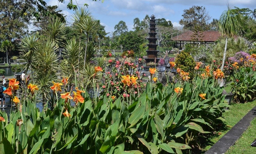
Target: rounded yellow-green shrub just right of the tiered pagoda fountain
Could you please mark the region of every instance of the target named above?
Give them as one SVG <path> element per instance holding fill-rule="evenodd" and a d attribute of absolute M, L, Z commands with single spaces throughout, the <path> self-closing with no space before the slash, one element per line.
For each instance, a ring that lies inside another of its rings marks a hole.
<path fill-rule="evenodd" d="M 188 53 L 188 52 L 185 52 L 185 51 L 182 51 L 180 54 L 177 55 L 177 57 L 175 58 L 175 68 L 180 68 L 182 69 L 183 71 L 185 72 L 188 72 L 189 73 L 189 77 L 190 77 L 190 80 L 192 80 L 195 76 L 195 65 L 196 65 L 196 62 L 194 60 L 194 58 Z"/>

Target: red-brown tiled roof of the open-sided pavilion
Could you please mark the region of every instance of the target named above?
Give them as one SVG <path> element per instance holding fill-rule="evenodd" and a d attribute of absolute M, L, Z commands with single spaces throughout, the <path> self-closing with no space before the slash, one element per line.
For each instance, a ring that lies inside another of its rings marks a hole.
<path fill-rule="evenodd" d="M 180 34 L 178 36 L 175 36 L 172 38 L 172 40 L 174 41 L 192 41 L 192 35 L 193 35 L 193 31 L 188 30 L 185 31 L 183 34 Z M 204 42 L 215 42 L 219 39 L 219 37 L 221 36 L 221 34 L 219 33 L 219 31 L 212 31 L 212 30 L 208 30 L 208 31 L 204 31 L 202 32 L 202 41 Z"/>

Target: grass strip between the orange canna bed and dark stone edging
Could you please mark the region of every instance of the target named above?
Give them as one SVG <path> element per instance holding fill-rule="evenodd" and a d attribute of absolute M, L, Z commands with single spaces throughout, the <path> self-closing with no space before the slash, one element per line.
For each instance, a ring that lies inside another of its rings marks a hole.
<path fill-rule="evenodd" d="M 232 103 L 229 110 L 227 110 L 223 116 L 225 117 L 224 124 L 216 132 L 206 136 L 206 140 L 202 143 L 202 153 L 206 152 L 212 145 L 214 145 L 222 136 L 224 136 L 239 120 L 245 116 L 254 106 L 256 105 L 256 100 L 253 102 L 248 102 L 245 104 Z M 256 120 L 254 119 L 254 135 L 251 138 L 256 138 Z M 251 140 L 248 144 L 251 144 Z M 246 147 L 244 147 L 246 148 Z M 241 151 L 241 150 L 240 150 Z M 256 148 L 254 150 L 254 153 Z M 238 151 L 239 153 L 239 151 Z"/>

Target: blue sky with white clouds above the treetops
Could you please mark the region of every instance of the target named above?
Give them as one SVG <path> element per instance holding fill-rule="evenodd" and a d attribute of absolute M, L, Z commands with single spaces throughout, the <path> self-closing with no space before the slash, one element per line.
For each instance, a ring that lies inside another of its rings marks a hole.
<path fill-rule="evenodd" d="M 47 5 L 57 5 L 63 13 L 67 15 L 67 21 L 72 22 L 73 10 L 67 9 L 68 0 L 65 3 L 58 3 L 58 0 L 46 0 Z M 114 31 L 114 26 L 123 20 L 129 30 L 133 28 L 133 19 L 138 17 L 142 20 L 146 14 L 154 14 L 156 18 L 171 20 L 174 26 L 179 26 L 184 9 L 193 5 L 205 6 L 211 20 L 219 18 L 223 10 L 227 8 L 227 2 L 231 6 L 239 8 L 256 8 L 256 0 L 73 0 L 73 3 L 83 7 L 87 3 L 92 15 L 100 19 L 101 24 L 106 26 L 106 32 Z"/>

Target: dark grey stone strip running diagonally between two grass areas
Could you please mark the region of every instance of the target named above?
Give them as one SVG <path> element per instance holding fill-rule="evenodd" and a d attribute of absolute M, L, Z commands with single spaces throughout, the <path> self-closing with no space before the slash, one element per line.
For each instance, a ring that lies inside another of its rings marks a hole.
<path fill-rule="evenodd" d="M 250 126 L 253 118 L 256 117 L 256 106 L 251 109 L 228 133 L 219 139 L 205 154 L 224 154 L 239 139 L 243 132 Z M 250 145 L 251 143 L 248 143 Z"/>

